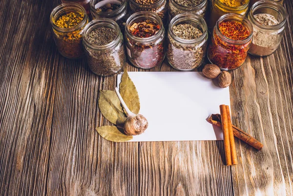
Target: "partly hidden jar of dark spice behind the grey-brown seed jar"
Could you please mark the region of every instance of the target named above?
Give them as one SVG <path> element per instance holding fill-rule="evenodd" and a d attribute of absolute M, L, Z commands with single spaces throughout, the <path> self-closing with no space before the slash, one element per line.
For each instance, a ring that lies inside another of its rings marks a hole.
<path fill-rule="evenodd" d="M 91 0 L 90 9 L 93 19 L 115 20 L 124 32 L 126 20 L 129 17 L 126 0 Z"/>

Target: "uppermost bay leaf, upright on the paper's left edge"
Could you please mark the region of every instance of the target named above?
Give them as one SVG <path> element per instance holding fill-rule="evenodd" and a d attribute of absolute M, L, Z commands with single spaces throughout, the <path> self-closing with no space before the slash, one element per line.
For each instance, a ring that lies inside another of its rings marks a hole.
<path fill-rule="evenodd" d="M 126 69 L 121 78 L 119 91 L 129 110 L 134 114 L 138 114 L 140 110 L 138 93 Z"/>

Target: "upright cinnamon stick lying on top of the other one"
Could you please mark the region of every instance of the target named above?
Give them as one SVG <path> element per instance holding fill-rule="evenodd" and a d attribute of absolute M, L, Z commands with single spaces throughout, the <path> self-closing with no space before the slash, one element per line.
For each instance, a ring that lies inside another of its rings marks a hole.
<path fill-rule="evenodd" d="M 226 105 L 220 105 L 221 119 L 222 119 L 222 130 L 224 136 L 224 151 L 226 157 L 226 164 L 232 165 L 231 161 L 231 148 L 230 148 L 230 138 L 229 138 L 229 125 L 228 117 L 226 111 Z"/>

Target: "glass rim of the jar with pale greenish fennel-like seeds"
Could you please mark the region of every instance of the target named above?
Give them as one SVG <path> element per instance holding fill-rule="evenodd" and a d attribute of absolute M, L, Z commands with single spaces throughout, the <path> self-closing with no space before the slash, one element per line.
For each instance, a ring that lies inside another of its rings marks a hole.
<path fill-rule="evenodd" d="M 186 18 L 184 18 L 186 17 Z M 195 39 L 182 39 L 179 38 L 178 36 L 176 36 L 173 32 L 172 27 L 182 21 L 193 21 L 196 22 L 197 24 L 200 25 L 200 27 L 203 30 L 203 34 L 199 37 L 199 38 L 195 38 Z M 181 42 L 181 43 L 196 43 L 196 42 L 200 42 L 203 39 L 205 39 L 207 37 L 208 34 L 208 26 L 206 21 L 204 20 L 204 18 L 202 16 L 198 16 L 196 14 L 193 13 L 181 13 L 176 15 L 169 23 L 169 29 L 168 29 L 169 34 L 172 36 L 172 38 L 176 39 L 177 41 Z"/>

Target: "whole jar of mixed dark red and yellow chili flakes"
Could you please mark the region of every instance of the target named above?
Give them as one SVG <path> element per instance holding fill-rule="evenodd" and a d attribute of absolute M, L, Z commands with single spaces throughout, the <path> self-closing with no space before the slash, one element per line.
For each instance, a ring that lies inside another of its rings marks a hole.
<path fill-rule="evenodd" d="M 132 14 L 125 26 L 126 54 L 136 67 L 150 69 L 165 58 L 165 29 L 161 18 L 152 12 Z"/>

